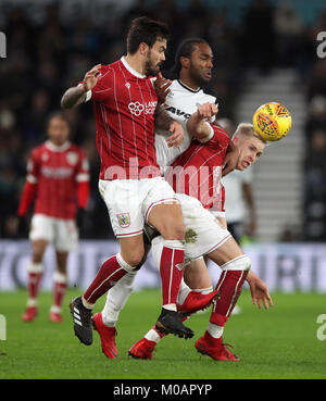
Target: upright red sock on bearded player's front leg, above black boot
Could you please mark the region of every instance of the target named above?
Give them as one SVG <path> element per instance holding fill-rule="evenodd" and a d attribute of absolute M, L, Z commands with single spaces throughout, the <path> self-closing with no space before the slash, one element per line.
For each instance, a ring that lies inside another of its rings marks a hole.
<path fill-rule="evenodd" d="M 185 249 L 180 241 L 164 241 L 161 253 L 163 306 L 176 311 L 176 302 L 184 275 Z"/>

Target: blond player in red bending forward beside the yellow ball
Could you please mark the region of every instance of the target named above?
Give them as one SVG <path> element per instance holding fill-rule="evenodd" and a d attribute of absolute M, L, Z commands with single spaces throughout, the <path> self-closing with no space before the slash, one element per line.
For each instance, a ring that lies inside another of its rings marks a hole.
<path fill-rule="evenodd" d="M 211 115 L 203 112 L 205 104 L 198 108 L 198 111 L 189 118 L 187 128 L 197 137 L 202 134 L 203 138 L 208 140 L 204 143 L 193 141 L 188 150 L 175 161 L 173 166 L 181 167 L 181 170 L 171 171 L 171 183 L 174 185 L 175 191 L 180 193 L 177 198 L 183 206 L 187 229 L 186 260 L 189 262 L 196 261 L 196 268 L 192 272 L 190 271 L 190 275 L 187 272 L 188 266 L 185 267 L 185 274 L 188 275 L 187 283 L 191 288 L 203 288 L 210 285 L 211 280 L 204 261 L 200 258 L 203 254 L 208 255 L 222 268 L 222 275 L 215 288 L 220 293 L 220 298 L 214 301 L 210 323 L 204 335 L 196 341 L 196 349 L 214 360 L 238 361 L 239 359 L 224 346 L 223 333 L 224 326 L 240 296 L 244 280 L 248 280 L 252 301 L 259 308 L 261 308 L 261 301 L 265 308 L 272 306 L 273 301 L 265 284 L 250 271 L 249 258 L 227 231 L 225 218 L 215 214 L 215 217 L 222 224 L 220 226 L 214 221 L 214 215 L 206 213 L 208 211 L 223 212 L 224 189 L 220 179 L 229 138 L 222 128 L 205 122 L 205 118 Z M 214 104 L 211 108 L 214 110 Z M 254 133 L 251 124 L 240 124 L 233 140 L 239 150 L 237 170 L 240 171 L 253 164 L 262 154 L 266 145 Z M 173 175 L 176 173 L 176 180 L 173 180 Z M 188 236 L 191 233 L 192 239 L 187 240 L 187 233 Z M 160 237 L 152 240 L 156 264 L 161 258 L 161 241 Z M 192 268 L 191 265 L 190 268 Z M 184 285 L 184 287 L 187 286 Z M 180 293 L 180 296 L 186 298 L 189 291 L 189 288 L 181 287 L 184 295 Z M 179 310 L 183 311 L 185 305 L 181 305 Z M 162 337 L 162 334 L 153 327 L 131 347 L 129 354 L 134 358 L 152 359 L 152 352 Z"/>

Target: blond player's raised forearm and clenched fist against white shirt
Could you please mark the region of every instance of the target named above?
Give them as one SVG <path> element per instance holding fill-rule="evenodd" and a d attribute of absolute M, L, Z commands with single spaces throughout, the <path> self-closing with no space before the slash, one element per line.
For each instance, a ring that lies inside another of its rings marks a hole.
<path fill-rule="evenodd" d="M 190 136 L 200 141 L 204 141 L 212 134 L 212 127 L 208 121 L 217 114 L 217 106 L 214 103 L 200 104 L 187 123 L 187 129 Z"/>

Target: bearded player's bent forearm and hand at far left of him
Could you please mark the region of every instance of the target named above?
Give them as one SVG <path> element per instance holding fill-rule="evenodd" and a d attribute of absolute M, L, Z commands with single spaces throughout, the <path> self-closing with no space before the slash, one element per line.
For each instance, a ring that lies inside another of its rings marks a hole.
<path fill-rule="evenodd" d="M 70 88 L 64 92 L 61 99 L 61 106 L 63 109 L 72 109 L 86 101 L 87 92 L 98 83 L 101 74 L 100 68 L 101 64 L 93 66 L 85 74 L 82 85 Z"/>

